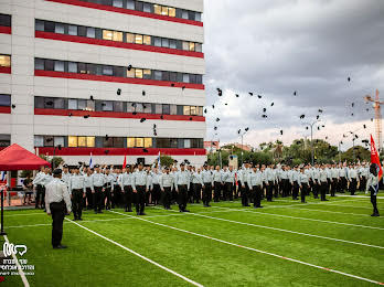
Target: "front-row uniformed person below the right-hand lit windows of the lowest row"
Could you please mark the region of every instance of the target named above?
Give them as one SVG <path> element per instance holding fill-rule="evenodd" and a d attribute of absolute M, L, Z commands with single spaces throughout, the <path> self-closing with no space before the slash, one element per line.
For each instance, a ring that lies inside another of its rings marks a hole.
<path fill-rule="evenodd" d="M 143 170 L 143 166 L 140 162 L 138 170 L 132 174 L 132 190 L 136 198 L 136 214 L 146 215 L 146 193 L 148 192 L 149 181 L 148 173 Z"/>

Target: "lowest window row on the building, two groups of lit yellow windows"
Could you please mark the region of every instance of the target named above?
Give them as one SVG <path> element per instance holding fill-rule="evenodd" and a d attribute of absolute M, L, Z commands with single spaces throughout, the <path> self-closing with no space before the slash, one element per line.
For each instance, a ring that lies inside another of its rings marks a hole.
<path fill-rule="evenodd" d="M 0 135 L 1 136 L 1 135 Z M 0 137 L 1 140 L 1 137 Z M 68 148 L 203 148 L 202 138 L 34 136 L 35 147 Z"/>

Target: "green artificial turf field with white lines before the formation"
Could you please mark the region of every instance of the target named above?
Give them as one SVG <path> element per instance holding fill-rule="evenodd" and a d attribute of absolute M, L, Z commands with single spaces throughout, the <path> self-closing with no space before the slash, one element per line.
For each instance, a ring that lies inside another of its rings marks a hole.
<path fill-rule="evenodd" d="M 381 195 L 381 194 L 378 194 Z M 51 247 L 52 220 L 41 210 L 7 211 L 8 238 L 25 244 L 30 286 L 370 286 L 384 283 L 384 216 L 369 198 L 307 203 L 239 201 L 190 204 L 191 213 L 146 208 L 84 212 L 64 222 Z M 377 199 L 384 215 L 384 199 Z M 2 236 L 1 236 L 2 237 Z M 3 241 L 3 238 L 2 238 Z M 2 242 L 1 246 L 2 246 Z M 143 257 L 142 257 L 143 256 Z M 1 286 L 24 286 L 6 276 Z"/>

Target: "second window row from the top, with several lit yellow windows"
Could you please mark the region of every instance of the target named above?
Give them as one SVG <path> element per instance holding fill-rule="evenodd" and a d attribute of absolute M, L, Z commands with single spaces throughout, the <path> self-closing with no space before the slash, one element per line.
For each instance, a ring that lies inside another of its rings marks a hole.
<path fill-rule="evenodd" d="M 73 25 L 51 21 L 36 20 L 35 30 L 67 35 L 78 35 L 116 42 L 135 43 L 140 45 L 162 46 L 184 51 L 202 52 L 202 44 L 160 36 L 135 34 L 107 29 Z"/>

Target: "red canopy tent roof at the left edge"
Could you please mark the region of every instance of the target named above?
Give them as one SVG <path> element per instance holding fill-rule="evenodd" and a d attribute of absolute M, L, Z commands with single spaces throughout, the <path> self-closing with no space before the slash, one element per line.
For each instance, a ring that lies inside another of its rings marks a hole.
<path fill-rule="evenodd" d="M 0 151 L 0 170 L 35 170 L 51 163 L 17 144 Z"/>

